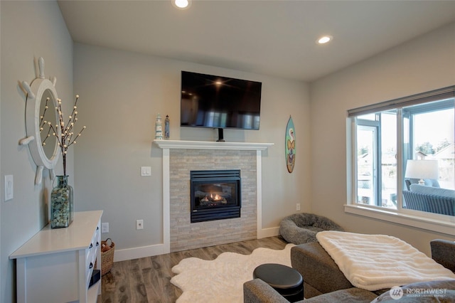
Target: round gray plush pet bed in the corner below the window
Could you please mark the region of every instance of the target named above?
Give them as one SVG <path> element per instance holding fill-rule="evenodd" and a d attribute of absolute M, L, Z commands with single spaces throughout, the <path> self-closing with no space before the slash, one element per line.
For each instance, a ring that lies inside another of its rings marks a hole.
<path fill-rule="evenodd" d="M 296 245 L 316 241 L 316 233 L 322 230 L 344 229 L 332 220 L 314 213 L 294 213 L 287 216 L 279 225 L 279 234 L 284 240 Z"/>

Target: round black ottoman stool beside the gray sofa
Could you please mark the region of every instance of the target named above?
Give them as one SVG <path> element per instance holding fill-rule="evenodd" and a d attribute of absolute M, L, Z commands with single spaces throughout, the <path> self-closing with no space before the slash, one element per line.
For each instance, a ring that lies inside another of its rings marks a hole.
<path fill-rule="evenodd" d="M 256 278 L 273 287 L 289 302 L 304 299 L 304 279 L 294 268 L 275 263 L 262 264 L 253 271 L 253 279 Z"/>

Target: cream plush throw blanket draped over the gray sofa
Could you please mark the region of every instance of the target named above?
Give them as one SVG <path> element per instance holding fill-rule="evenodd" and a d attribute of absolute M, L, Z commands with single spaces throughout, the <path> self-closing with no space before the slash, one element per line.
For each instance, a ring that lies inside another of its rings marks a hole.
<path fill-rule="evenodd" d="M 355 287 L 370 291 L 413 282 L 455 279 L 455 274 L 390 235 L 340 231 L 316 234 L 321 246 Z"/>

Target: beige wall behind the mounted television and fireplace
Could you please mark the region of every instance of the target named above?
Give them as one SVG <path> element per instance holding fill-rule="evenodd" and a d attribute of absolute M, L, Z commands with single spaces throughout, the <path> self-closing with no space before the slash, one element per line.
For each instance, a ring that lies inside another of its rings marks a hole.
<path fill-rule="evenodd" d="M 272 142 L 262 158 L 262 226 L 277 230 L 284 216 L 311 211 L 309 90 L 294 80 L 75 44 L 79 118 L 87 125 L 75 149 L 75 208 L 103 209 L 116 250 L 162 243 L 161 149 L 152 146 L 157 113 L 171 118 L 171 139 L 214 141 L 213 129 L 179 126 L 181 70 L 262 82 L 259 131 L 225 130 L 230 142 Z M 284 133 L 296 127 L 296 167 L 287 172 Z M 151 166 L 141 177 L 140 167 Z M 136 220 L 144 230 L 136 230 Z M 171 222 L 172 224 L 172 222 Z"/>

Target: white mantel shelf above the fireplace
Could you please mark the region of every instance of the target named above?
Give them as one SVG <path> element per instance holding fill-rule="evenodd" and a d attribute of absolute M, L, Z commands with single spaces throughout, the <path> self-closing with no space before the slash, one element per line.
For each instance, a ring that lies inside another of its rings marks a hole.
<path fill-rule="evenodd" d="M 265 150 L 273 143 L 250 142 L 208 142 L 208 141 L 182 141 L 182 140 L 154 140 L 161 149 L 235 149 L 235 150 Z"/>

